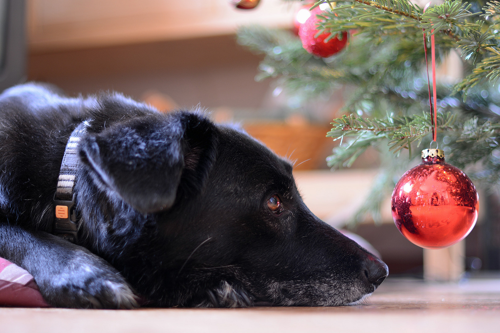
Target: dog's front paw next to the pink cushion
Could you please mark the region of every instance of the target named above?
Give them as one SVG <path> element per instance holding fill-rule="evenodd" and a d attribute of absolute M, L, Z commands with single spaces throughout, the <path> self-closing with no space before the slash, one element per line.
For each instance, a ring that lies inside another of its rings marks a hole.
<path fill-rule="evenodd" d="M 35 276 L 46 301 L 55 307 L 133 309 L 137 297 L 125 279 L 103 259 L 86 251 L 45 267 Z"/>

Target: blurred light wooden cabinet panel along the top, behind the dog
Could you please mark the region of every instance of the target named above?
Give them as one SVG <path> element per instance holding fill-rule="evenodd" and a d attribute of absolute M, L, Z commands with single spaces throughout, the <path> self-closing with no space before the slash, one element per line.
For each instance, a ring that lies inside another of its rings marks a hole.
<path fill-rule="evenodd" d="M 34 51 L 231 34 L 239 25 L 291 26 L 298 1 L 262 0 L 236 9 L 228 0 L 28 0 Z"/>

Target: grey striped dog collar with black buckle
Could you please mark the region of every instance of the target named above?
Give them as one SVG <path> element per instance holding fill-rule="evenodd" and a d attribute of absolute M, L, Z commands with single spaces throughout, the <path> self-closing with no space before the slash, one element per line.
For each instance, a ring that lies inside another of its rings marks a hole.
<path fill-rule="evenodd" d="M 87 132 L 90 123 L 85 120 L 71 132 L 64 149 L 64 156 L 57 179 L 54 195 L 55 218 L 52 233 L 63 239 L 76 243 L 78 226 L 74 207 L 74 183 L 79 163 L 76 147 L 80 138 Z"/>

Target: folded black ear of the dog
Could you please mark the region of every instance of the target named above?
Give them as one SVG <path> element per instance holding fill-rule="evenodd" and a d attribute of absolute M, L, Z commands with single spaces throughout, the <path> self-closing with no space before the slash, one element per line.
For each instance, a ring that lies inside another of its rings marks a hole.
<path fill-rule="evenodd" d="M 208 143 L 194 144 L 186 137 L 193 122 L 203 131 L 201 120 L 189 113 L 132 118 L 83 137 L 80 160 L 97 185 L 134 209 L 142 213 L 167 209 L 181 179 L 198 174 L 195 170 L 206 159 L 203 145 Z"/>

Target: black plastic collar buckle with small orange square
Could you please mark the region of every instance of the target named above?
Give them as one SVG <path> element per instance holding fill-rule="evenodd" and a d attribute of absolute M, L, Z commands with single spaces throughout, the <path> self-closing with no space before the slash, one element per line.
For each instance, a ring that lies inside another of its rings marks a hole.
<path fill-rule="evenodd" d="M 76 243 L 78 226 L 74 209 L 74 195 L 71 201 L 56 200 L 54 196 L 55 219 L 52 233 L 71 243 Z"/>

